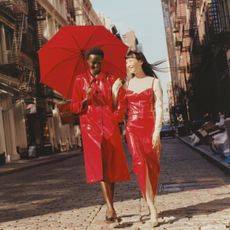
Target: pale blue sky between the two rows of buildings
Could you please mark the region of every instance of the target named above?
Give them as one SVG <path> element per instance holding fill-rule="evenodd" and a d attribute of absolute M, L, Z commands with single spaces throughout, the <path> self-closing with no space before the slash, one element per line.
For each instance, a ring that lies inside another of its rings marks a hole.
<path fill-rule="evenodd" d="M 133 30 L 149 63 L 167 59 L 160 0 L 91 0 L 94 10 L 108 17 L 122 35 Z M 167 103 L 169 73 L 157 72 Z"/>

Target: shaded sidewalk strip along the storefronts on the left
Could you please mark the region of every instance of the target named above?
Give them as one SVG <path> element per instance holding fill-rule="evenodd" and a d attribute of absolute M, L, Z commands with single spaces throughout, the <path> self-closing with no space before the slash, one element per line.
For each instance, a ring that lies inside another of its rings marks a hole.
<path fill-rule="evenodd" d="M 54 153 L 50 155 L 40 156 L 38 158 L 30 158 L 23 160 L 15 160 L 0 166 L 0 176 L 20 171 L 23 169 L 33 168 L 43 164 L 62 161 L 67 158 L 75 157 L 82 153 L 81 149 L 75 149 L 67 152 Z"/>

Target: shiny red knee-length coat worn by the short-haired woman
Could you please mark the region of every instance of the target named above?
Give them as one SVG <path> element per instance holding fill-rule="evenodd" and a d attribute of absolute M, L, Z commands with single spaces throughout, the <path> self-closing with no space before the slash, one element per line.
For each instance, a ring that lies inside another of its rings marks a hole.
<path fill-rule="evenodd" d="M 114 77 L 100 73 L 92 77 L 89 72 L 77 76 L 72 95 L 71 109 L 80 114 L 80 128 L 84 148 L 86 180 L 88 183 L 103 180 L 102 154 L 106 155 L 110 182 L 129 179 L 118 122 L 124 109 L 119 102 L 113 108 L 112 84 Z M 83 108 L 86 89 L 91 87 L 91 98 Z"/>

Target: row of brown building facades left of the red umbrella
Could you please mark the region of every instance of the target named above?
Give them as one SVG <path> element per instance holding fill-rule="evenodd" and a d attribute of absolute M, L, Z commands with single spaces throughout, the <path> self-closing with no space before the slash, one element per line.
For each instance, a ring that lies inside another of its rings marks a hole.
<path fill-rule="evenodd" d="M 48 153 L 76 144 L 76 128 L 62 124 L 64 98 L 40 84 L 37 51 L 65 25 L 100 25 L 90 1 L 0 1 L 0 153 Z"/>

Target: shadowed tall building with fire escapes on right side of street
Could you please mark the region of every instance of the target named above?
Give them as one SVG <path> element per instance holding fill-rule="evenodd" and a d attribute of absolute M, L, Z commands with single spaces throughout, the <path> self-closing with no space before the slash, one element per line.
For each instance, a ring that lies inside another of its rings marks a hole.
<path fill-rule="evenodd" d="M 184 121 L 230 112 L 229 5 L 225 0 L 162 0 L 174 106 Z"/>

